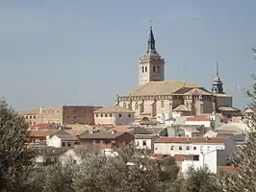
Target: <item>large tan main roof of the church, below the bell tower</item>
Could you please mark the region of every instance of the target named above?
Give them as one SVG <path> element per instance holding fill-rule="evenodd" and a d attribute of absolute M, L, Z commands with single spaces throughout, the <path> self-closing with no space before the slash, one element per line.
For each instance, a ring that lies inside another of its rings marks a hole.
<path fill-rule="evenodd" d="M 146 95 L 169 95 L 179 90 L 182 87 L 197 87 L 199 85 L 188 83 L 185 81 L 163 81 L 149 82 L 132 90 L 125 95 L 130 96 L 146 96 Z"/>

